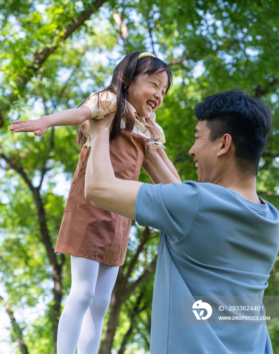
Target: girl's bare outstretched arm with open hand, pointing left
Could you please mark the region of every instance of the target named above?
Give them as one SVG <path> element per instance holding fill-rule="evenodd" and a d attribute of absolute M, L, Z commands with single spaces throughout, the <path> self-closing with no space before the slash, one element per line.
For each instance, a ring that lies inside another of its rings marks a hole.
<path fill-rule="evenodd" d="M 79 125 L 91 118 L 91 111 L 88 107 L 71 108 L 65 111 L 42 116 L 33 120 L 13 120 L 10 130 L 33 131 L 34 135 L 43 135 L 50 126 Z"/>

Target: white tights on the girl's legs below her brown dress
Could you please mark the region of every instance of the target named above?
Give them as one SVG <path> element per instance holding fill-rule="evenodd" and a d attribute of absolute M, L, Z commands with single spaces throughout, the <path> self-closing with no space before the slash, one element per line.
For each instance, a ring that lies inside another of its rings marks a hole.
<path fill-rule="evenodd" d="M 71 256 L 72 286 L 58 326 L 57 354 L 97 354 L 119 267 Z"/>

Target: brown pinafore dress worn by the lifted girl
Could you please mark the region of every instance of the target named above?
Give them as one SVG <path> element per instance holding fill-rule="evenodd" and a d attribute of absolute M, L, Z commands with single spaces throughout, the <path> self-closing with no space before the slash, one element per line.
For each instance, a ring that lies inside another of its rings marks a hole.
<path fill-rule="evenodd" d="M 147 141 L 148 138 L 121 129 L 121 135 L 109 142 L 110 160 L 117 178 L 138 180 Z M 132 220 L 96 208 L 85 199 L 85 171 L 90 150 L 91 147 L 86 146 L 81 150 L 55 253 L 71 254 L 119 266 L 126 257 Z"/>

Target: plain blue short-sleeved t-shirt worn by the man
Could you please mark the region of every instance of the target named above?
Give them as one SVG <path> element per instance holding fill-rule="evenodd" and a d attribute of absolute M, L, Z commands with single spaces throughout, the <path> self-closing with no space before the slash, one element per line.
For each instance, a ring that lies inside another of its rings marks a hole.
<path fill-rule="evenodd" d="M 161 231 L 150 354 L 270 354 L 266 325 L 182 324 L 182 297 L 263 295 L 279 212 L 211 183 L 140 187 L 138 224 Z"/>

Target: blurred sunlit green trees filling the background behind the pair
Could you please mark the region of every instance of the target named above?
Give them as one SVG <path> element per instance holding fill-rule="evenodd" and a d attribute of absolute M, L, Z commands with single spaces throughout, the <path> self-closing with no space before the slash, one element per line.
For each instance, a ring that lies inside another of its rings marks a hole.
<path fill-rule="evenodd" d="M 123 55 L 147 50 L 168 62 L 175 85 L 157 111 L 167 152 L 182 179 L 196 180 L 188 155 L 195 104 L 241 89 L 265 100 L 273 128 L 258 192 L 279 207 L 277 18 L 274 1 L 0 0 L 0 264 L 21 353 L 55 352 L 58 319 L 70 289 L 69 257 L 53 253 L 65 197 L 79 155 L 73 127 L 42 137 L 12 134 L 11 120 L 76 107 L 109 82 Z M 148 182 L 144 172 L 140 180 Z M 135 225 L 105 319 L 101 354 L 148 352 L 158 232 Z M 278 295 L 278 262 L 266 294 Z M 0 294 L 1 295 L 1 294 Z M 43 315 L 18 322 L 19 309 L 44 303 Z M 270 328 L 279 353 L 277 328 Z"/>

